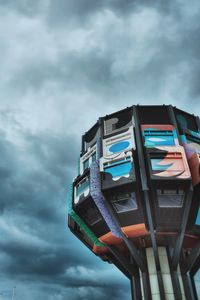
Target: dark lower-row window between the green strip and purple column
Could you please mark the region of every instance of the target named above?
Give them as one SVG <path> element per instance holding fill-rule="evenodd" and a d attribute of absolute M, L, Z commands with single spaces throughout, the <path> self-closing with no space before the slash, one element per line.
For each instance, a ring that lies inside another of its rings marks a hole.
<path fill-rule="evenodd" d="M 102 219 L 98 209 L 92 202 L 90 202 L 90 204 L 87 205 L 83 211 L 81 211 L 81 215 L 83 220 L 90 226 L 93 226 Z"/>

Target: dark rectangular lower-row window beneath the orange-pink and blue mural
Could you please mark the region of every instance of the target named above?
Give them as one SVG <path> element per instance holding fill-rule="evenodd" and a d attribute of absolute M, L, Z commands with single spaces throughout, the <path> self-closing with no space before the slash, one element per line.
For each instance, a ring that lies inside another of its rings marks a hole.
<path fill-rule="evenodd" d="M 183 190 L 157 190 L 159 207 L 182 207 L 184 199 Z"/>

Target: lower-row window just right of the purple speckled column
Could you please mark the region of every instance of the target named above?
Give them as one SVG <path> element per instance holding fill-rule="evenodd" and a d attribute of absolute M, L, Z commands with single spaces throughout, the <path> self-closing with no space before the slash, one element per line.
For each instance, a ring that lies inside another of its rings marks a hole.
<path fill-rule="evenodd" d="M 137 209 L 135 193 L 121 194 L 112 199 L 113 208 L 117 213 L 127 212 Z"/>

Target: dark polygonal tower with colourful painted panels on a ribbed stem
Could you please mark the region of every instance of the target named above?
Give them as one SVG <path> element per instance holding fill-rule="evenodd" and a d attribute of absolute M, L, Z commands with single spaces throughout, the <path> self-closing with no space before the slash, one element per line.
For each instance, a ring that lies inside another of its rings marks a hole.
<path fill-rule="evenodd" d="M 68 226 L 130 279 L 133 299 L 198 299 L 199 205 L 197 116 L 137 105 L 83 135 Z"/>

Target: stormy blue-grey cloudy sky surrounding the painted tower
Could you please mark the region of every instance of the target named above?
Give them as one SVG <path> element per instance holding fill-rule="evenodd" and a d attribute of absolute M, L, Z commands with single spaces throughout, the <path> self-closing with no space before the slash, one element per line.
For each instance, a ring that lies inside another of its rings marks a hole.
<path fill-rule="evenodd" d="M 0 0 L 0 299 L 130 300 L 67 228 L 81 135 L 133 104 L 199 115 L 199 0 Z"/>

